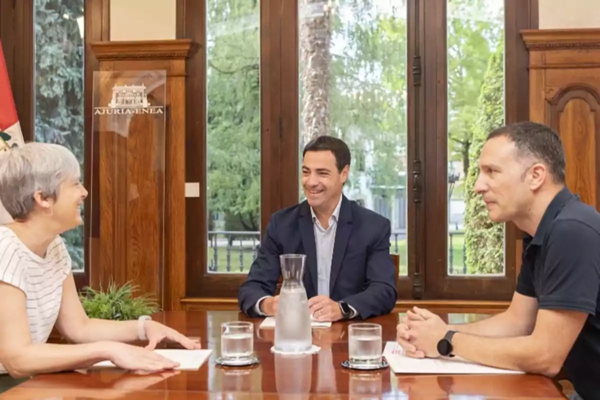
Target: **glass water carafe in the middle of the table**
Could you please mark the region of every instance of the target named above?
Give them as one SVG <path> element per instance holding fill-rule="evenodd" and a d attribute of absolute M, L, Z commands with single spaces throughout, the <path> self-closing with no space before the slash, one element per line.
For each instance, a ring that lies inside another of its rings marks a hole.
<path fill-rule="evenodd" d="M 275 315 L 275 350 L 282 353 L 308 351 L 313 345 L 310 309 L 302 278 L 306 256 L 279 256 L 283 283 Z"/>

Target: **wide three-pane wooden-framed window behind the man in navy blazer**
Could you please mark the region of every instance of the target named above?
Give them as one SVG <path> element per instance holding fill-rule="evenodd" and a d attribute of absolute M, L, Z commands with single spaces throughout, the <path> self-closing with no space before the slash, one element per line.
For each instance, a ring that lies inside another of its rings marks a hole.
<path fill-rule="evenodd" d="M 187 221 L 187 296 L 236 296 L 269 217 L 303 200 L 303 146 L 329 134 L 352 151 L 346 196 L 391 221 L 400 299 L 510 299 L 516 229 L 488 221 L 473 183 L 485 135 L 528 118 L 514 88 L 528 86 L 518 32 L 536 28 L 536 1 L 292 3 L 179 13 L 203 49 L 187 155 L 206 160 L 188 163 L 206 193 L 187 213 L 206 223 Z"/>

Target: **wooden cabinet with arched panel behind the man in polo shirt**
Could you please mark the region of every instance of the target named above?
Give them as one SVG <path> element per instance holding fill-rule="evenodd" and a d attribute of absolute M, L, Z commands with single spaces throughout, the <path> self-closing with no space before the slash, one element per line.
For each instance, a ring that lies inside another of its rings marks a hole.
<path fill-rule="evenodd" d="M 566 184 L 600 209 L 600 29 L 521 32 L 529 49 L 529 115 L 556 130 Z"/>

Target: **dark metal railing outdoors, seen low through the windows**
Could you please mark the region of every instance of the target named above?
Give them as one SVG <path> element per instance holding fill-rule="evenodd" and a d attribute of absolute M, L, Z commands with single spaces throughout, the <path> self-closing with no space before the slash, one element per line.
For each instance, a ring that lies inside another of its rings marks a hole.
<path fill-rule="evenodd" d="M 464 236 L 462 230 L 448 232 L 448 272 L 450 274 L 467 273 L 464 241 L 460 254 L 456 254 L 457 249 L 454 246 L 455 239 L 461 236 Z M 406 230 L 392 231 L 391 252 L 400 254 L 401 249 L 406 251 L 405 240 Z M 210 272 L 248 272 L 259 247 L 260 232 L 208 231 L 208 270 Z"/>

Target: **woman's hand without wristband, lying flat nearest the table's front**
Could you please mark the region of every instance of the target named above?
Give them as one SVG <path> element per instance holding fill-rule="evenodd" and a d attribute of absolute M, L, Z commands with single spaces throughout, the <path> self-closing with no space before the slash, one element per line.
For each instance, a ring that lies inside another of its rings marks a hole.
<path fill-rule="evenodd" d="M 110 361 L 118 368 L 128 371 L 163 371 L 179 366 L 149 348 L 114 342 L 110 349 Z"/>

